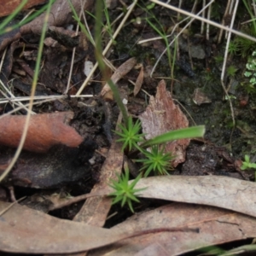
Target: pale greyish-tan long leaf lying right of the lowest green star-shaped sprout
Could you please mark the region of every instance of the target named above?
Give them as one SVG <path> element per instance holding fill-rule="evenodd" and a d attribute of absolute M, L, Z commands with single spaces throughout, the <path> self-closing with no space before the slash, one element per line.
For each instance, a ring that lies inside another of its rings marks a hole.
<path fill-rule="evenodd" d="M 132 182 L 132 181 L 131 181 Z M 141 178 L 140 197 L 188 202 L 241 212 L 256 218 L 256 183 L 224 176 L 164 176 Z"/>

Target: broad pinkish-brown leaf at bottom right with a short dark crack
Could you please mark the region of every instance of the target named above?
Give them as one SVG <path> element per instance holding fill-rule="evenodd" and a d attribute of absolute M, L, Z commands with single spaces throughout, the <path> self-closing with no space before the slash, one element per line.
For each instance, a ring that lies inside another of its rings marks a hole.
<path fill-rule="evenodd" d="M 163 226 L 190 227 L 198 233 L 162 232 L 137 236 L 94 250 L 89 255 L 181 255 L 201 247 L 243 240 L 256 235 L 256 219 L 217 207 L 174 203 L 136 214 L 111 230 L 136 232 Z M 147 253 L 146 253 L 147 252 Z"/>

